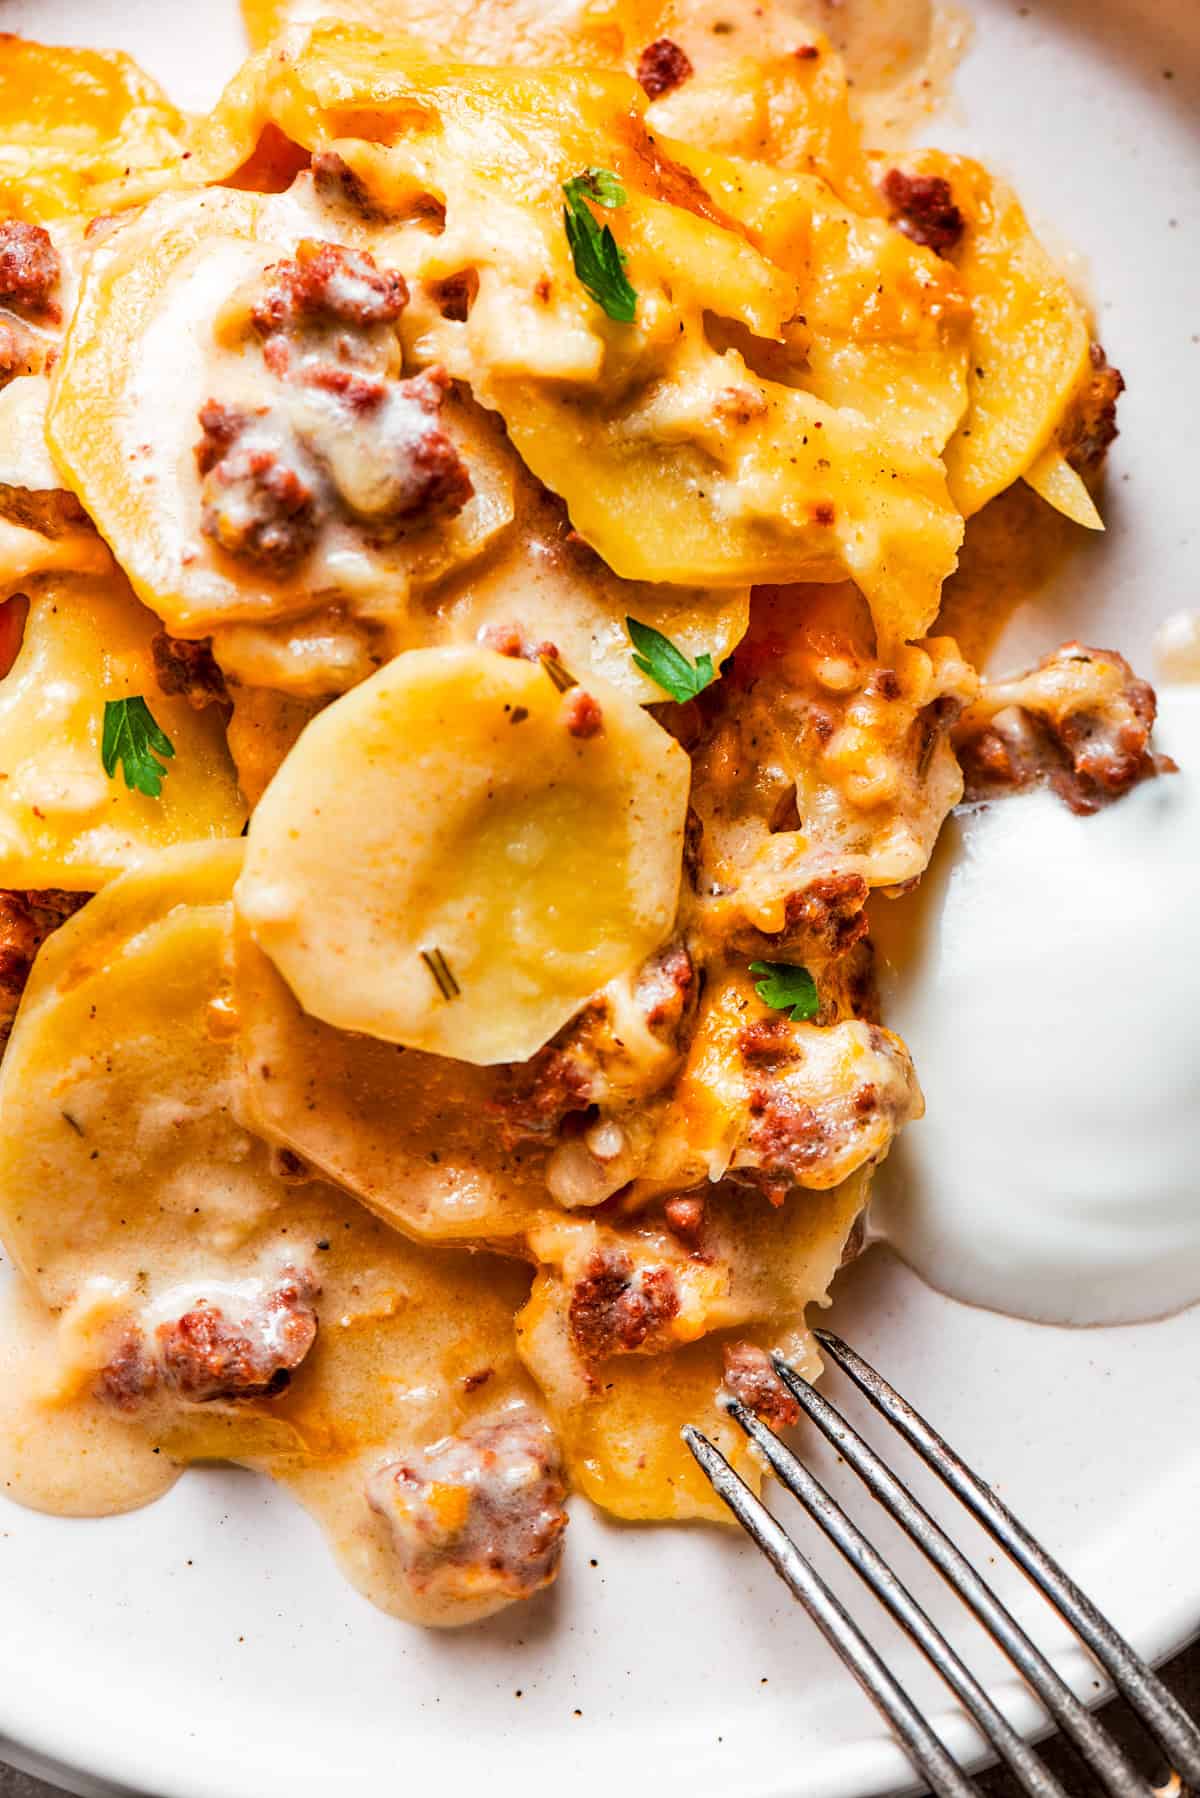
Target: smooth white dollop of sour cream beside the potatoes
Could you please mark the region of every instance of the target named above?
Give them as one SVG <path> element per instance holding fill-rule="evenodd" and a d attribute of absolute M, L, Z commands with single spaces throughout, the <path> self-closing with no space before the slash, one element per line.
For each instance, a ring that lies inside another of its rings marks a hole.
<path fill-rule="evenodd" d="M 1180 773 L 1076 818 L 1045 791 L 950 820 L 873 910 L 883 1016 L 928 1111 L 873 1226 L 932 1286 L 1045 1323 L 1200 1300 L 1200 689 Z"/>

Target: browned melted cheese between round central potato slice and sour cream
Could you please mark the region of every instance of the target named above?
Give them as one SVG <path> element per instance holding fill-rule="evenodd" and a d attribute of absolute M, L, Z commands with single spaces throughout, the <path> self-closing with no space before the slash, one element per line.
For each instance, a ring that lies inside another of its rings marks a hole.
<path fill-rule="evenodd" d="M 916 879 L 963 797 L 948 725 L 975 687 L 952 638 L 878 658 L 853 588 L 759 593 L 693 753 L 709 928 L 779 931 L 819 876 Z"/>

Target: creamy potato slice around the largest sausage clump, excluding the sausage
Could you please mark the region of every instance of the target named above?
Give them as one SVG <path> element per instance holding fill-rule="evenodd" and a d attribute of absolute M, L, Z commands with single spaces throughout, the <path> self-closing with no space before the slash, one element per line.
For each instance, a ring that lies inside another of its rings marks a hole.
<path fill-rule="evenodd" d="M 479 556 L 513 516 L 497 421 L 450 397 L 444 426 L 475 487 L 455 518 L 390 543 L 335 518 L 284 574 L 237 561 L 203 534 L 198 412 L 212 397 L 250 410 L 272 397 L 261 345 L 227 342 L 221 313 L 302 237 L 371 248 L 363 221 L 340 212 L 335 225 L 311 183 L 304 194 L 205 189 L 162 194 L 97 246 L 83 279 L 47 437 L 140 599 L 182 636 L 286 624 L 333 601 L 383 629 L 403 619 L 414 588 Z"/>

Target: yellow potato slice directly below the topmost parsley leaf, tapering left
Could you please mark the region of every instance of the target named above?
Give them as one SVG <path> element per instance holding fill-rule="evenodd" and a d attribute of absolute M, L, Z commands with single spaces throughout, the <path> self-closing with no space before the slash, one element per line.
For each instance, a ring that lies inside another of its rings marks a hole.
<path fill-rule="evenodd" d="M 770 423 L 730 432 L 718 383 L 747 383 Z M 497 397 L 529 467 L 630 581 L 739 586 L 846 574 L 887 645 L 937 613 L 963 534 L 941 462 L 882 442 L 860 414 L 754 383 L 734 351 L 698 379 L 660 381 L 646 408 L 622 419 L 536 385 L 506 385 Z"/>

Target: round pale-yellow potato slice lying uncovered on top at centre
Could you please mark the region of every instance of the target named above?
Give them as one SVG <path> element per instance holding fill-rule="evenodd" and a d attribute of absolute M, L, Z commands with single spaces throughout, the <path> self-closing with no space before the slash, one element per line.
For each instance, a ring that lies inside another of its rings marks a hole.
<path fill-rule="evenodd" d="M 414 649 L 313 719 L 236 901 L 304 1010 L 524 1061 L 667 937 L 689 762 L 631 698 L 489 649 Z"/>

